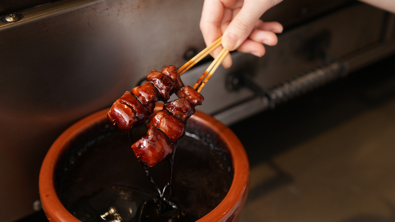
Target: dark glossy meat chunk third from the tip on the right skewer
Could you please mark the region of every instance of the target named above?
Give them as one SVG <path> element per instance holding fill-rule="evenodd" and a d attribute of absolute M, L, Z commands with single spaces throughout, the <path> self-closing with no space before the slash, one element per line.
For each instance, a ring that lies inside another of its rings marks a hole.
<path fill-rule="evenodd" d="M 173 116 L 185 120 L 194 115 L 195 108 L 191 105 L 187 98 L 182 97 L 163 105 L 163 109 L 169 111 Z"/>

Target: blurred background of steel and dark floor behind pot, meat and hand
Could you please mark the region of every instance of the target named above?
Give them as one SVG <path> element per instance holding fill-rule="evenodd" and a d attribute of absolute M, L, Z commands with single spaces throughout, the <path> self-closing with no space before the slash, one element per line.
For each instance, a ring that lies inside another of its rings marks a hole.
<path fill-rule="evenodd" d="M 46 220 L 38 175 L 52 142 L 150 70 L 201 51 L 202 5 L 0 3 L 2 221 Z M 198 107 L 230 126 L 249 156 L 241 221 L 394 221 L 395 16 L 354 0 L 286 0 L 262 19 L 284 25 L 278 45 L 262 58 L 232 53 Z"/>

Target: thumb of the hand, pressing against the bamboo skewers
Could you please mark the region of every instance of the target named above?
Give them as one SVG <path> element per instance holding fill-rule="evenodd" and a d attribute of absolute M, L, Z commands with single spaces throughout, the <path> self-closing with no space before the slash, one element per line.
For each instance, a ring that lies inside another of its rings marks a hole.
<path fill-rule="evenodd" d="M 236 50 L 251 34 L 256 21 L 273 6 L 271 0 L 245 0 L 239 13 L 232 19 L 222 35 L 222 46 Z"/>

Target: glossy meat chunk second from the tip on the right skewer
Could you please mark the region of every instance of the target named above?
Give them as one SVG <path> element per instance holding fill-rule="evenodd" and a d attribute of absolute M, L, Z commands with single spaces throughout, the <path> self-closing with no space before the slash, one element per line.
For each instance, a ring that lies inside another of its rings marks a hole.
<path fill-rule="evenodd" d="M 147 123 L 147 127 L 150 126 L 158 127 L 172 143 L 185 135 L 185 123 L 165 109 L 158 111 L 152 117 L 151 121 Z"/>

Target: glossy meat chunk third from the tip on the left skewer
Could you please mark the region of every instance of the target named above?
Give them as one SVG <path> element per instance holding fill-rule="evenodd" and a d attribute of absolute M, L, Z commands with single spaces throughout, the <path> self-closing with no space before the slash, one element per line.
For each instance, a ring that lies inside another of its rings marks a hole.
<path fill-rule="evenodd" d="M 170 95 L 173 94 L 176 89 L 173 79 L 160 71 L 152 70 L 147 76 L 147 81 L 154 84 L 160 93 L 159 99 L 164 102 L 170 98 Z"/>

